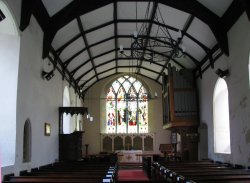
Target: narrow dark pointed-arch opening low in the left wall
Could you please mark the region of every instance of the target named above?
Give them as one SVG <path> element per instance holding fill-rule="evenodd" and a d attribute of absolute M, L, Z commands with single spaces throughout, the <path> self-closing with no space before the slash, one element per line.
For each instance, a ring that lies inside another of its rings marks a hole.
<path fill-rule="evenodd" d="M 23 162 L 30 162 L 31 160 L 31 124 L 27 119 L 23 130 Z"/>

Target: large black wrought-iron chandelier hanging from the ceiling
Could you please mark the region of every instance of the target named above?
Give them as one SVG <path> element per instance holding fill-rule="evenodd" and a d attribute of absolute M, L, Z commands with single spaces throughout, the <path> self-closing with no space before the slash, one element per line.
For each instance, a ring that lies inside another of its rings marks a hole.
<path fill-rule="evenodd" d="M 145 19 L 149 21 L 141 25 L 139 32 L 137 30 L 133 32 L 131 46 L 129 48 L 131 51 L 130 55 L 125 54 L 123 45 L 120 45 L 120 55 L 131 59 L 148 61 L 150 63 L 169 61 L 171 58 L 180 58 L 184 56 L 186 48 L 181 42 L 183 37 L 182 31 L 178 30 L 176 33 L 177 39 L 173 39 L 168 28 L 169 26 L 165 24 L 158 5 L 152 8 L 156 8 L 155 15 L 152 13 L 149 15 L 150 7 L 151 3 L 149 2 L 145 14 Z M 150 16 L 154 17 L 152 18 Z M 153 25 L 155 31 L 151 32 Z"/>

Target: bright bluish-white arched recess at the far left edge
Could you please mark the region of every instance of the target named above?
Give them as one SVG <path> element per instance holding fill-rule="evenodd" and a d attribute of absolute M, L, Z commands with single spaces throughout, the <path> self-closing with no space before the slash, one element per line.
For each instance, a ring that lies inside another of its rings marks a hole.
<path fill-rule="evenodd" d="M 20 37 L 8 4 L 0 1 L 0 8 L 6 16 L 0 22 L 0 166 L 4 174 L 5 169 L 13 171 L 15 164 Z"/>

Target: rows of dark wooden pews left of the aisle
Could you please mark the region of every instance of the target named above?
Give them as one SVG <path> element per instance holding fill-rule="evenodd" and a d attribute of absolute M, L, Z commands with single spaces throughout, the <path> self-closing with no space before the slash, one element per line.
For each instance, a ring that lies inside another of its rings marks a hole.
<path fill-rule="evenodd" d="M 101 183 L 108 180 L 114 182 L 117 178 L 117 166 L 110 166 L 110 163 L 103 162 L 67 162 L 55 163 L 49 166 L 42 166 L 31 173 L 22 176 L 9 176 L 3 183 Z"/>

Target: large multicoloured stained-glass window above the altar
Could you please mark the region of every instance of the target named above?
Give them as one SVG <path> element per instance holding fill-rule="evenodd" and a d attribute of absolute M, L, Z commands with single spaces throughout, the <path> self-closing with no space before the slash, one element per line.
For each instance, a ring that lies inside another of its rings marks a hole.
<path fill-rule="evenodd" d="M 107 133 L 148 132 L 148 92 L 131 76 L 115 80 L 107 91 Z"/>

